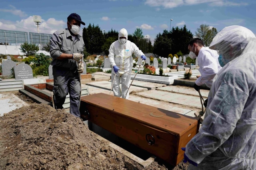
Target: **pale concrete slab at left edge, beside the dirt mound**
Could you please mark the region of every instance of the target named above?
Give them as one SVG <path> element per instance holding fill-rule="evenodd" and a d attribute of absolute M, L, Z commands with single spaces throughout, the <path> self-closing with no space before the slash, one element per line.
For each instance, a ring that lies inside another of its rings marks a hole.
<path fill-rule="evenodd" d="M 3 116 L 4 113 L 9 113 L 23 106 L 28 106 L 28 104 L 12 93 L 2 93 L 0 94 L 0 106 L 0 116 Z"/>

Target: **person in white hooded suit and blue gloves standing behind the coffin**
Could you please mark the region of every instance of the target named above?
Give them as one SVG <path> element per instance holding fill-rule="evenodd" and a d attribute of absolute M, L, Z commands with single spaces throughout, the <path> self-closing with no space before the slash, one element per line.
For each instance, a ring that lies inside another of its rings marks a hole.
<path fill-rule="evenodd" d="M 126 99 L 128 99 L 128 88 L 130 86 L 131 78 L 131 74 L 128 73 L 132 72 L 132 54 L 136 57 L 140 57 L 142 60 L 146 60 L 146 56 L 134 43 L 128 40 L 128 33 L 124 28 L 120 30 L 118 40 L 110 45 L 108 51 L 108 58 L 112 65 L 111 82 L 114 96 L 122 96 L 122 98 L 125 98 L 126 96 Z M 122 90 L 120 89 L 120 81 L 122 84 Z"/>

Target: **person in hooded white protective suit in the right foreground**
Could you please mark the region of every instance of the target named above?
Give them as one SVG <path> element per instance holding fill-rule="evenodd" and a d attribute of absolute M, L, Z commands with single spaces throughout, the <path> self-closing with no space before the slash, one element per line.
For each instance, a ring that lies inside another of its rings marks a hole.
<path fill-rule="evenodd" d="M 189 170 L 256 170 L 256 37 L 242 26 L 212 40 L 223 62 L 198 134 L 186 145 Z"/>

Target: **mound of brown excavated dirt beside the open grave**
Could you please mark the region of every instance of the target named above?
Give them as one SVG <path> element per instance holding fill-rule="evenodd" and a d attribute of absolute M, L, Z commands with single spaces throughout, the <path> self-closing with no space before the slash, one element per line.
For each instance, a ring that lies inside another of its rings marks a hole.
<path fill-rule="evenodd" d="M 187 170 L 156 158 L 142 167 L 114 150 L 81 119 L 46 104 L 29 103 L 0 117 L 1 170 Z"/>

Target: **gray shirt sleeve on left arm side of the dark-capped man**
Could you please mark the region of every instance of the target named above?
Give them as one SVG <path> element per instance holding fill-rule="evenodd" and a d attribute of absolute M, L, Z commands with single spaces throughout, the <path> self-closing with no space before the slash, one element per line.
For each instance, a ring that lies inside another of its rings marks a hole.
<path fill-rule="evenodd" d="M 62 38 L 57 32 L 55 32 L 52 34 L 50 42 L 50 55 L 53 59 L 56 59 L 62 54 L 62 52 L 60 51 L 62 45 Z"/>

